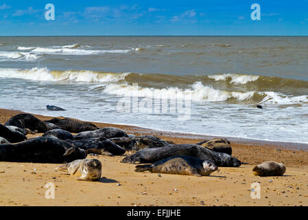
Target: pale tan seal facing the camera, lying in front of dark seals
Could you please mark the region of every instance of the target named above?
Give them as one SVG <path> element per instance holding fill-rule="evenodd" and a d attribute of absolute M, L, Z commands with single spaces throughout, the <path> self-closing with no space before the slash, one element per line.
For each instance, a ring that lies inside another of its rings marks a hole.
<path fill-rule="evenodd" d="M 76 159 L 58 166 L 56 170 L 67 171 L 77 180 L 99 181 L 102 175 L 102 163 L 98 159 Z"/>

